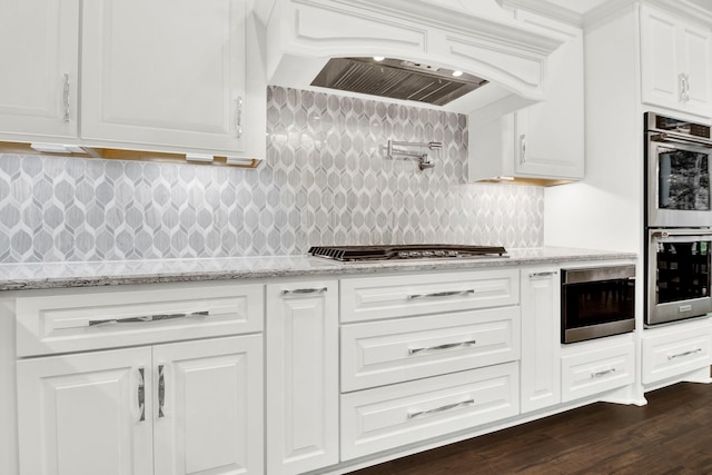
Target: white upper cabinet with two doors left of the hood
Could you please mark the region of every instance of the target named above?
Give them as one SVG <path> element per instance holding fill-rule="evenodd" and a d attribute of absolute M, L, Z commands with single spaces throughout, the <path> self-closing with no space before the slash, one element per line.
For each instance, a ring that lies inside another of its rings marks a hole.
<path fill-rule="evenodd" d="M 264 158 L 267 83 L 247 4 L 3 0 L 0 140 Z"/>

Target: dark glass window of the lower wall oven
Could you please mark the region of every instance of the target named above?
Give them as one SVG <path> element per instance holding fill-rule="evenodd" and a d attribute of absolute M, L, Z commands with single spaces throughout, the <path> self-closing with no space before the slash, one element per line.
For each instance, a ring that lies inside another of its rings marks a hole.
<path fill-rule="evenodd" d="M 710 246 L 709 240 L 657 243 L 657 304 L 708 296 Z"/>

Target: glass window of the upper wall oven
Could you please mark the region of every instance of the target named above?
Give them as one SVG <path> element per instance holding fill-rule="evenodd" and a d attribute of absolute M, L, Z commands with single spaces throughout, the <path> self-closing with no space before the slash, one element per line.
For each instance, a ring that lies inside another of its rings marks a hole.
<path fill-rule="evenodd" d="M 692 150 L 660 148 L 659 202 L 661 209 L 710 209 L 709 156 Z"/>

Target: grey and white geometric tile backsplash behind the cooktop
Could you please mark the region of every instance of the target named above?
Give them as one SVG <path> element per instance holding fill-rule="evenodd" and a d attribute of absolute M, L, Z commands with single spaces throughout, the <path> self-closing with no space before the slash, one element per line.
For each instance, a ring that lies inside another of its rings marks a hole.
<path fill-rule="evenodd" d="M 0 263 L 543 243 L 542 188 L 466 184 L 466 116 L 270 87 L 267 137 L 257 170 L 0 155 Z M 443 149 L 421 171 L 388 139 Z"/>

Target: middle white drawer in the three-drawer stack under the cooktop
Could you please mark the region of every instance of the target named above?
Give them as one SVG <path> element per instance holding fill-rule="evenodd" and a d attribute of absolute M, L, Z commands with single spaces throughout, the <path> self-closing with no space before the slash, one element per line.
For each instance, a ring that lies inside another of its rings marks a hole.
<path fill-rule="evenodd" d="M 342 327 L 342 390 L 473 369 L 520 357 L 520 307 Z"/>

